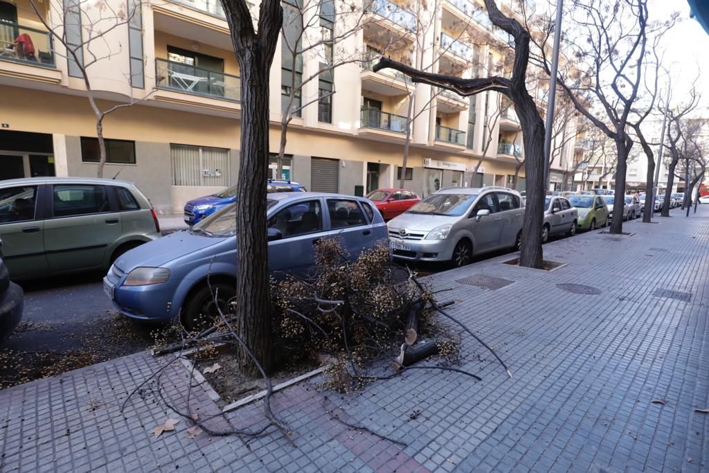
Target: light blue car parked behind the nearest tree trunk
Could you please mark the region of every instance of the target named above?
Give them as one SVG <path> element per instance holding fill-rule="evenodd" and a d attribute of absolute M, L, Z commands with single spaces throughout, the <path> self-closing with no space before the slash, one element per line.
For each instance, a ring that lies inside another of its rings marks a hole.
<path fill-rule="evenodd" d="M 172 233 L 125 252 L 104 277 L 104 289 L 124 316 L 169 321 L 187 328 L 218 316 L 235 294 L 235 204 L 189 230 Z M 313 245 L 339 237 L 352 259 L 387 243 L 386 223 L 362 197 L 315 192 L 269 194 L 269 270 L 303 274 L 314 265 Z M 210 266 L 211 265 L 211 266 Z M 218 289 L 218 302 L 207 285 Z"/>

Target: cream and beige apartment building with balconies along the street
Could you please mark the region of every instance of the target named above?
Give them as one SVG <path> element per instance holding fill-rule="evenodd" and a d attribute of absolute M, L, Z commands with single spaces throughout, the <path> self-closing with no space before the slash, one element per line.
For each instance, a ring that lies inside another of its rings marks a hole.
<path fill-rule="evenodd" d="M 108 1 L 118 11 L 125 0 Z M 128 0 L 128 11 L 133 1 Z M 510 3 L 501 1 L 513 14 Z M 86 41 L 86 25 L 100 28 L 105 11 L 94 4 L 84 8 L 77 0 L 35 4 L 41 20 L 30 0 L 0 0 L 0 179 L 95 176 L 96 120 L 86 84 L 73 57 L 67 58 L 43 23 L 67 28 L 67 38 L 79 44 Z M 86 64 L 99 58 L 88 67 L 99 108 L 138 101 L 104 121 L 104 177 L 135 182 L 158 211 L 174 213 L 186 200 L 236 182 L 239 67 L 218 0 L 137 5 L 132 21 L 108 30 L 105 41 L 85 45 L 79 60 Z M 476 77 L 499 69 L 511 52 L 508 35 L 491 25 L 481 3 L 442 1 L 437 11 L 425 13 L 431 22 L 425 32 L 415 31 L 420 21 L 403 3 L 373 0 L 365 8 L 364 27 L 338 45 L 364 59 L 381 49 L 381 38 L 396 38 L 412 65 Z M 324 20 L 317 28 L 324 24 L 335 34 L 343 28 L 335 11 L 318 13 Z M 293 64 L 283 50 L 283 45 L 277 48 L 270 74 L 272 153 L 279 147 L 290 74 L 318 71 L 315 58 Z M 406 187 L 422 195 L 447 186 L 514 184 L 522 136 L 506 100 L 494 92 L 469 98 L 440 93 L 425 84 L 414 86 L 401 74 L 372 72 L 371 64 L 350 62 L 304 85 L 301 99 L 323 90 L 335 94 L 313 101 L 293 118 L 282 177 L 314 191 L 347 194 L 397 187 L 402 173 Z M 411 99 L 415 118 L 408 165 L 402 169 Z M 566 160 L 573 157 L 574 143 L 569 146 Z M 560 178 L 562 161 L 552 165 L 552 182 Z M 277 177 L 274 155 L 269 167 Z M 522 168 L 520 190 L 524 175 Z"/>

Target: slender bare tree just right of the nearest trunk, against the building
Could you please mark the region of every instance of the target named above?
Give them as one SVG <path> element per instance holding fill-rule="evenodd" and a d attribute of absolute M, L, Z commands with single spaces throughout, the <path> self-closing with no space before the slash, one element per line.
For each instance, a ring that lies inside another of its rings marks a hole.
<path fill-rule="evenodd" d="M 352 0 L 338 1 L 337 4 L 333 0 L 284 2 L 281 51 L 291 69 L 288 82 L 282 84 L 288 94 L 284 95 L 281 110 L 281 140 L 276 172 L 278 179 L 283 172 L 286 133 L 293 118 L 301 116 L 303 109 L 312 104 L 331 104 L 335 94 L 335 69 L 362 61 L 359 51 L 348 50 L 346 44 L 347 40 L 355 38 L 362 30 L 366 14 L 367 10 L 362 8 L 362 4 Z M 307 61 L 303 58 L 307 58 Z M 316 70 L 303 74 L 303 64 L 316 63 Z M 318 87 L 318 94 L 306 96 L 308 84 L 321 79 L 327 79 L 329 90 Z"/>

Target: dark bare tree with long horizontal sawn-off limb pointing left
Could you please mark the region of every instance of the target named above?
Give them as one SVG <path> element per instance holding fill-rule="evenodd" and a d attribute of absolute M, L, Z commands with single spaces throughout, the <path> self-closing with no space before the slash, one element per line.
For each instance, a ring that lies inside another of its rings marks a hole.
<path fill-rule="evenodd" d="M 479 94 L 491 90 L 508 96 L 515 104 L 515 111 L 520 119 L 524 138 L 527 162 L 527 206 L 525 209 L 520 241 L 520 265 L 542 267 L 542 213 L 544 212 L 544 122 L 537 111 L 532 96 L 527 91 L 526 75 L 530 54 L 530 33 L 514 18 L 504 15 L 494 0 L 485 0 L 488 16 L 494 26 L 512 35 L 515 42 L 515 58 L 510 79 L 500 76 L 462 79 L 446 74 L 424 72 L 402 64 L 388 57 L 383 57 L 374 66 L 374 70 L 391 67 L 411 77 L 413 82 L 422 82 L 457 92 L 462 96 Z"/>

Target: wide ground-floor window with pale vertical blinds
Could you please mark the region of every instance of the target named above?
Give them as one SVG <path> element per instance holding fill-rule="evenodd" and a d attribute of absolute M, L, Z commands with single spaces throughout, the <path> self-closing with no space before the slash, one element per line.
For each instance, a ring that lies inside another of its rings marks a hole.
<path fill-rule="evenodd" d="M 229 185 L 229 150 L 171 144 L 170 158 L 174 186 Z"/>

